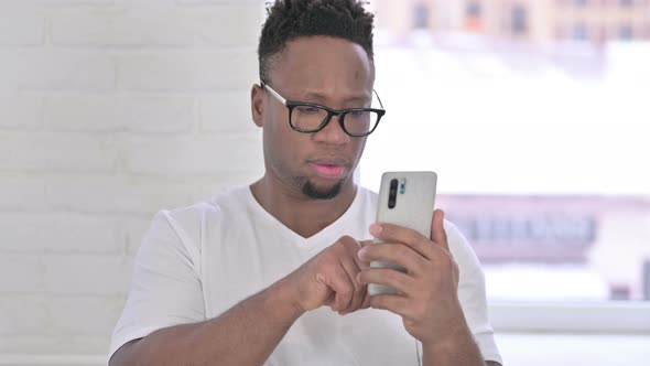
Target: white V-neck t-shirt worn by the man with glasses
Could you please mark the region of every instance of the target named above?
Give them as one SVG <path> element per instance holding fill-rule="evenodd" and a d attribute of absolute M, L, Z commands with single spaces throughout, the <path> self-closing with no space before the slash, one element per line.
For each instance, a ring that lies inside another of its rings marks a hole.
<path fill-rule="evenodd" d="M 310 238 L 295 234 L 257 202 L 249 187 L 210 202 L 162 211 L 136 259 L 127 304 L 110 355 L 153 331 L 216 317 L 289 274 L 344 235 L 369 239 L 377 194 L 359 187 L 347 212 Z M 465 238 L 445 223 L 458 262 L 458 298 L 484 357 L 501 362 L 487 319 L 485 280 Z M 303 314 L 266 366 L 418 365 L 418 344 L 399 315 L 365 309 L 338 315 L 322 306 Z"/>

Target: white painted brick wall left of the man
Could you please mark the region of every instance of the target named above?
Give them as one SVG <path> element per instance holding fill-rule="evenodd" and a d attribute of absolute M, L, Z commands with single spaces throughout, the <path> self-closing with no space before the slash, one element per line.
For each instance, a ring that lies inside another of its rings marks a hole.
<path fill-rule="evenodd" d="M 153 214 L 260 176 L 263 3 L 0 0 L 0 365 L 106 364 Z"/>

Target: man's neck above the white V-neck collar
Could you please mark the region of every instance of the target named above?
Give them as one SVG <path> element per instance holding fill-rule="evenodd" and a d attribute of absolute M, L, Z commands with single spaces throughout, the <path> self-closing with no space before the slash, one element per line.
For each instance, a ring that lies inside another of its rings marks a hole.
<path fill-rule="evenodd" d="M 349 181 L 344 182 L 336 197 L 315 200 L 274 182 L 268 174 L 250 189 L 267 212 L 304 238 L 317 234 L 343 216 L 357 192 L 356 185 Z"/>

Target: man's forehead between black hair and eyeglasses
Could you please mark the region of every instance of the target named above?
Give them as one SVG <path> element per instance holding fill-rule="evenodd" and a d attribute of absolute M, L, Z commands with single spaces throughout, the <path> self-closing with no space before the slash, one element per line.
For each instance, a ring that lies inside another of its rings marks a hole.
<path fill-rule="evenodd" d="M 372 89 L 373 65 L 359 44 L 329 36 L 303 36 L 277 55 L 270 78 L 283 89 Z"/>

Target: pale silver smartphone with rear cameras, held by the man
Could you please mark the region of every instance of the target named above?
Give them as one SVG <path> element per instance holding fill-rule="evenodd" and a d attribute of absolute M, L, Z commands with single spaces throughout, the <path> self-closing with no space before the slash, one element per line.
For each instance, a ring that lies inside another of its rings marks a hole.
<path fill-rule="evenodd" d="M 431 237 L 431 220 L 435 205 L 437 175 L 434 172 L 386 172 L 381 176 L 377 223 L 390 223 L 419 232 Z M 390 245 L 375 239 L 376 245 Z M 371 261 L 372 268 L 392 268 L 405 272 L 401 266 L 391 262 Z M 368 293 L 396 294 L 390 287 L 370 283 Z"/>

